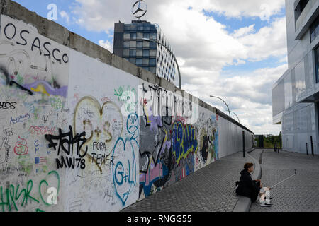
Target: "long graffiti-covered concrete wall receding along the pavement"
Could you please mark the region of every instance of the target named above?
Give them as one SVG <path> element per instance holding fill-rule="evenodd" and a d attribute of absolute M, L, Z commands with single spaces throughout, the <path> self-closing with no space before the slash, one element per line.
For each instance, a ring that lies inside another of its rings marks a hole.
<path fill-rule="evenodd" d="M 251 147 L 218 109 L 0 2 L 0 211 L 118 211 L 242 150 L 242 130 Z"/>

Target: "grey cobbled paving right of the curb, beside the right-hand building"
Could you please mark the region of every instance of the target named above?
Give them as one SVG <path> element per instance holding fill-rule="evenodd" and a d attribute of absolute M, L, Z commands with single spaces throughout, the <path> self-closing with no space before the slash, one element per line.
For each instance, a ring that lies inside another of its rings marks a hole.
<path fill-rule="evenodd" d="M 271 191 L 272 207 L 252 203 L 250 212 L 318 212 L 319 157 L 300 153 L 274 153 L 256 149 L 250 155 L 259 160 L 262 154 L 262 185 L 272 186 L 297 170 L 295 177 Z"/>

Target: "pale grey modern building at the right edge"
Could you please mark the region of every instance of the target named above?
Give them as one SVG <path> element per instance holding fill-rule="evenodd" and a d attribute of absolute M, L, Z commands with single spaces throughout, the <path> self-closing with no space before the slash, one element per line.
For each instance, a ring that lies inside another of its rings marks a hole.
<path fill-rule="evenodd" d="M 289 69 L 273 85 L 273 123 L 282 147 L 319 155 L 319 1 L 286 0 Z"/>

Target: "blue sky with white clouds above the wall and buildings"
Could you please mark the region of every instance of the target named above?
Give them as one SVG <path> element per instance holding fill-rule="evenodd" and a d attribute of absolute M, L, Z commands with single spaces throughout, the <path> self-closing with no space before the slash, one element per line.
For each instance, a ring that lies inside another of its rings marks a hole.
<path fill-rule="evenodd" d="M 114 23 L 134 20 L 135 0 L 15 1 L 45 18 L 54 16 L 54 4 L 57 23 L 111 52 Z M 272 85 L 287 69 L 284 7 L 284 0 L 147 0 L 143 20 L 162 28 L 184 90 L 226 112 L 209 95 L 223 98 L 256 134 L 279 134 Z"/>

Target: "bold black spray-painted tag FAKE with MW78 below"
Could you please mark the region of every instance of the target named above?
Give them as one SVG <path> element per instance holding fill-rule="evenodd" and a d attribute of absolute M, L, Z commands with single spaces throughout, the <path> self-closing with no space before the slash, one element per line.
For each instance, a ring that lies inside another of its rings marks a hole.
<path fill-rule="evenodd" d="M 57 169 L 60 169 L 62 167 L 69 167 L 74 169 L 74 167 L 80 167 L 81 169 L 85 169 L 85 160 L 83 159 L 87 153 L 88 147 L 86 146 L 86 149 L 84 151 L 84 154 L 81 154 L 82 146 L 84 143 L 86 143 L 85 138 L 85 131 L 81 134 L 77 133 L 73 137 L 73 131 L 72 126 L 69 126 L 69 132 L 68 133 L 62 133 L 62 129 L 59 129 L 59 135 L 53 136 L 53 135 L 45 135 L 45 139 L 49 141 L 48 148 L 53 148 L 54 150 L 57 150 L 57 155 L 60 155 L 60 150 L 62 149 L 68 156 L 60 156 L 61 160 L 58 158 L 56 159 L 57 162 Z M 83 137 L 83 138 L 82 138 Z M 53 142 L 58 141 L 58 142 Z M 77 150 L 76 150 L 76 156 L 74 155 L 74 144 L 77 144 Z M 67 145 L 67 147 L 65 147 Z"/>

